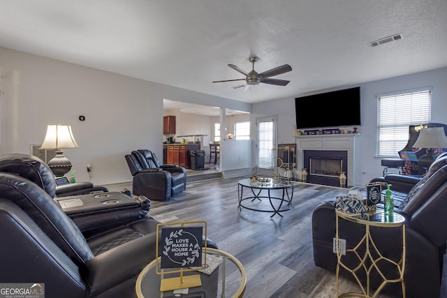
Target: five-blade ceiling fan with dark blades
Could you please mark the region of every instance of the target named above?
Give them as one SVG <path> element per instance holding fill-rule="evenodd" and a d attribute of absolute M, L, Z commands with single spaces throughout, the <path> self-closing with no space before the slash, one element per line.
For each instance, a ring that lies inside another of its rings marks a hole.
<path fill-rule="evenodd" d="M 234 64 L 228 64 L 228 66 L 230 66 L 230 68 L 233 68 L 237 72 L 242 73 L 242 75 L 245 75 L 244 79 L 213 81 L 213 83 L 245 80 L 245 82 L 247 82 L 247 86 L 248 85 L 257 85 L 259 83 L 272 84 L 272 85 L 278 85 L 278 86 L 286 86 L 286 84 L 288 84 L 288 82 L 290 82 L 287 80 L 270 79 L 270 77 L 273 77 L 274 75 L 281 75 L 281 73 L 287 73 L 288 71 L 291 71 L 292 68 L 290 65 L 284 64 L 282 66 L 278 66 L 276 68 L 272 68 L 270 70 L 264 71 L 263 73 L 256 73 L 256 71 L 254 70 L 254 64 L 256 61 L 258 61 L 258 57 L 255 57 L 255 56 L 250 57 L 249 61 L 253 65 L 253 68 L 249 73 L 238 68 Z M 240 87 L 244 87 L 244 86 L 240 86 Z"/>

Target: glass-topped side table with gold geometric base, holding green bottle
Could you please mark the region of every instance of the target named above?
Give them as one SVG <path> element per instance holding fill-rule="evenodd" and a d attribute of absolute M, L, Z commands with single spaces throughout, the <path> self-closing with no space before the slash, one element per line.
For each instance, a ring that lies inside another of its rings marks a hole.
<path fill-rule="evenodd" d="M 359 215 L 352 215 L 352 214 L 346 214 L 342 211 L 335 211 L 336 214 L 336 234 L 335 234 L 335 246 L 337 251 L 337 271 L 336 271 L 336 283 L 337 283 L 337 297 L 366 297 L 366 298 L 372 298 L 376 297 L 379 292 L 383 289 L 383 287 L 387 283 L 401 283 L 402 285 L 402 297 L 405 297 L 405 283 L 404 283 L 404 270 L 405 270 L 405 218 L 404 216 L 397 214 L 394 212 L 392 216 L 387 215 L 384 213 L 383 209 L 377 208 L 374 213 L 371 214 L 359 214 Z M 339 218 L 343 218 L 346 221 L 351 221 L 353 223 L 358 223 L 360 225 L 365 225 L 365 236 L 360 239 L 358 244 L 356 246 L 353 246 L 352 249 L 346 249 L 346 253 L 354 253 L 358 260 L 359 265 L 355 268 L 350 268 L 349 266 L 345 265 L 342 257 L 343 254 L 340 253 L 339 250 Z M 379 248 L 377 248 L 376 244 L 374 243 L 374 239 L 372 239 L 371 232 L 369 230 L 370 227 L 380 227 L 380 228 L 395 228 L 395 227 L 402 227 L 402 255 L 400 260 L 395 262 L 394 260 L 391 260 L 390 258 L 386 258 L 382 255 L 381 251 L 379 251 Z M 359 248 L 362 246 L 362 244 L 365 244 L 365 253 L 362 255 Z M 376 255 L 376 257 L 373 257 L 372 253 Z M 381 262 L 388 262 L 392 265 L 394 265 L 398 271 L 398 278 L 395 279 L 387 279 L 386 276 L 383 274 L 377 263 Z M 349 271 L 353 277 L 356 279 L 358 286 L 361 290 L 361 293 L 354 293 L 354 292 L 347 292 L 343 294 L 339 294 L 339 270 L 340 267 L 346 269 L 346 271 Z M 357 272 L 363 269 L 367 276 L 367 283 L 364 285 L 360 278 L 358 278 Z M 379 288 L 377 288 L 374 293 L 372 292 L 372 289 L 370 289 L 369 285 L 369 273 L 375 269 L 381 276 L 382 276 L 382 283 L 379 285 Z"/>

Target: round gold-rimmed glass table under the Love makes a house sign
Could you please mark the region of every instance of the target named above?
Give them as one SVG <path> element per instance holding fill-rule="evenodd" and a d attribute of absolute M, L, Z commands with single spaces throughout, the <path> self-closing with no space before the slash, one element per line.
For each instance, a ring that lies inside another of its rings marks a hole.
<path fill-rule="evenodd" d="M 178 277 L 179 273 L 168 274 L 170 269 L 163 269 L 166 274 L 156 274 L 156 260 L 142 269 L 135 283 L 135 291 L 138 298 L 166 297 L 166 298 L 205 298 L 205 297 L 234 297 L 240 298 L 244 295 L 247 276 L 241 262 L 233 255 L 220 251 L 219 249 L 207 248 L 207 258 L 217 257 L 219 266 L 211 274 L 200 271 L 184 271 L 184 276 L 200 274 L 200 287 L 189 288 L 187 293 L 177 291 L 160 291 L 162 278 Z M 160 266 L 160 262 L 158 264 Z M 162 269 L 159 268 L 159 271 Z M 177 270 L 177 269 L 176 269 Z"/>

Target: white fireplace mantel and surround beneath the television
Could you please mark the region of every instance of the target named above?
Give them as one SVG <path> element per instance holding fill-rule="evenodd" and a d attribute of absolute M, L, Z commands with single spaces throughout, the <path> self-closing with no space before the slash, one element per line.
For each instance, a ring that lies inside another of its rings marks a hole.
<path fill-rule="evenodd" d="M 349 186 L 356 186 L 356 137 L 360 133 L 340 133 L 332 135 L 298 135 L 296 139 L 297 170 L 301 172 L 303 151 L 305 150 L 343 150 L 348 153 Z"/>

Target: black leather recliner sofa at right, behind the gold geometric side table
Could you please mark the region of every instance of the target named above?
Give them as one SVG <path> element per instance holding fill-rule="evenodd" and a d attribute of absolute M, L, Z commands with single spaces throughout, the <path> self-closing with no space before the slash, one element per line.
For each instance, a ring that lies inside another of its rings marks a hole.
<path fill-rule="evenodd" d="M 411 188 L 395 212 L 406 218 L 406 297 L 439 297 L 447 241 L 447 156 L 439 156 L 432 163 L 427 174 Z M 337 266 L 337 255 L 332 252 L 335 230 L 335 200 L 319 204 L 312 215 L 314 262 L 316 266 L 334 272 Z M 346 239 L 346 249 L 353 248 L 365 234 L 365 227 L 340 220 L 339 233 L 341 239 Z M 371 227 L 371 233 L 385 255 L 399 260 L 402 250 L 400 227 Z M 355 266 L 358 259 L 347 253 L 344 262 Z M 388 276 L 396 277 L 395 267 L 384 271 Z M 352 278 L 350 273 L 344 272 L 346 277 Z M 374 270 L 370 278 L 373 288 L 382 281 Z M 383 290 L 393 297 L 402 297 L 400 284 L 386 285 Z"/>

